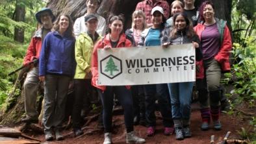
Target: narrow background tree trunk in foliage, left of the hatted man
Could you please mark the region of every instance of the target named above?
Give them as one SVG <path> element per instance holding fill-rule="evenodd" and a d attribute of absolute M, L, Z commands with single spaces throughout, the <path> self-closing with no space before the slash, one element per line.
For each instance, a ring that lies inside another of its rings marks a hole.
<path fill-rule="evenodd" d="M 25 21 L 25 6 L 16 4 L 15 8 L 15 21 Z M 14 40 L 17 42 L 24 42 L 24 29 L 14 28 Z"/>

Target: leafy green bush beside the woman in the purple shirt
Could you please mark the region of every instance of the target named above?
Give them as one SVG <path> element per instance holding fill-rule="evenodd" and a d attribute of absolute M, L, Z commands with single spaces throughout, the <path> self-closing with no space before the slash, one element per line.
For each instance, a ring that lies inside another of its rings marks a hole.
<path fill-rule="evenodd" d="M 234 43 L 232 73 L 226 73 L 225 80 L 233 80 L 235 86 L 234 93 L 238 94 L 242 100 L 250 100 L 251 105 L 256 99 L 256 45 L 248 38 L 246 47 Z"/>

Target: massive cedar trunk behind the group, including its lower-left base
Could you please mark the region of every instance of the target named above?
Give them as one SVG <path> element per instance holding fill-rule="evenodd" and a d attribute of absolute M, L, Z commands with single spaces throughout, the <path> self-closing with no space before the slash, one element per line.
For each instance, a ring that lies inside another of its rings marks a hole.
<path fill-rule="evenodd" d="M 105 19 L 110 14 L 124 14 L 125 16 L 125 29 L 131 27 L 131 14 L 133 13 L 136 4 L 140 0 L 101 0 L 97 13 L 103 16 Z M 168 0 L 168 3 L 172 3 L 173 0 Z M 196 7 L 198 7 L 203 0 L 196 0 Z M 227 20 L 227 25 L 231 29 L 231 3 L 232 0 L 214 0 L 215 15 L 217 18 Z M 55 16 L 61 13 L 70 14 L 71 18 L 75 19 L 83 16 L 86 12 L 86 0 L 49 0 L 47 7 L 53 10 Z M 1 124 L 10 125 L 17 123 L 24 112 L 24 95 L 19 95 L 15 100 L 16 104 L 10 107 L 10 110 L 0 117 Z"/>

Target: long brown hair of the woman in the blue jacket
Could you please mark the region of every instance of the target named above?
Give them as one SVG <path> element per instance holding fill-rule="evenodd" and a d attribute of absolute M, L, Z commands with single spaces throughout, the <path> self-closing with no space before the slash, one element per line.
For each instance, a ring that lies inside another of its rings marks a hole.
<path fill-rule="evenodd" d="M 60 14 L 57 18 L 57 20 L 53 23 L 53 30 L 58 31 L 60 30 L 60 25 L 58 24 L 60 22 L 60 16 L 66 16 L 68 18 L 68 28 L 65 32 L 65 35 L 73 36 L 73 20 L 70 18 L 70 15 L 68 14 Z"/>

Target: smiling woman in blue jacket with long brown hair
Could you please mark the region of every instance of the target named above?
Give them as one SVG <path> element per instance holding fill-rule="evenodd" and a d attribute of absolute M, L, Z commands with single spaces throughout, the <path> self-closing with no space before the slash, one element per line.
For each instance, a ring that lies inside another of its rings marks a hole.
<path fill-rule="evenodd" d="M 73 21 L 70 16 L 60 14 L 42 44 L 39 59 L 39 79 L 44 82 L 44 117 L 45 139 L 62 140 L 59 132 L 64 119 L 68 86 L 75 71 L 75 38 Z"/>

